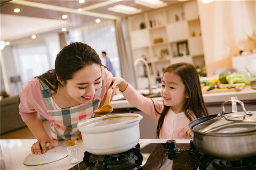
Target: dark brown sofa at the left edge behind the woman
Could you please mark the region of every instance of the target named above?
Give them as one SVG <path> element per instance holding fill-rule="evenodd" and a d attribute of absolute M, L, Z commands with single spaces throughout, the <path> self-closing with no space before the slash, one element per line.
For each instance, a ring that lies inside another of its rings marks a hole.
<path fill-rule="evenodd" d="M 0 101 L 1 135 L 26 127 L 19 115 L 20 97 L 5 97 Z"/>

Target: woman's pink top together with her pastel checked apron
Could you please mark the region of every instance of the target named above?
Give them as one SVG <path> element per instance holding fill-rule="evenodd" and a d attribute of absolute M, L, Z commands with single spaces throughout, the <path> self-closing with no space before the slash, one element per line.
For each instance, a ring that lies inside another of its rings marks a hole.
<path fill-rule="evenodd" d="M 99 107 L 99 103 L 106 98 L 107 89 L 105 86 L 109 77 L 112 77 L 112 74 L 105 67 L 102 67 L 102 87 L 96 91 L 93 101 L 86 105 L 79 104 L 65 109 L 56 106 L 48 86 L 44 82 L 40 83 L 38 78 L 34 78 L 23 85 L 20 91 L 19 114 L 23 121 L 39 116 L 39 113 L 51 121 L 50 129 L 53 139 L 81 138 L 77 123 L 94 117 L 94 111 Z"/>

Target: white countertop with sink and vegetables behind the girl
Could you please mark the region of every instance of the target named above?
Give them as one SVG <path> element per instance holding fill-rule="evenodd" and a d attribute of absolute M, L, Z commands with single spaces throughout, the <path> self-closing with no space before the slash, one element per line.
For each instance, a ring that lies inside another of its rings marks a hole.
<path fill-rule="evenodd" d="M 161 88 L 153 89 L 153 93 L 160 92 Z M 147 94 L 148 89 L 138 90 L 139 93 Z M 256 89 L 252 89 L 251 86 L 246 86 L 244 90 L 233 91 L 233 92 L 221 92 L 221 93 L 208 93 L 203 94 L 205 103 L 223 103 L 224 101 L 230 100 L 230 97 L 237 96 L 237 100 L 256 100 Z M 123 94 L 117 94 L 113 97 L 111 105 L 114 109 L 120 108 L 134 108 L 127 100 L 118 100 L 123 98 Z M 162 97 L 152 97 L 153 100 L 163 101 Z"/>

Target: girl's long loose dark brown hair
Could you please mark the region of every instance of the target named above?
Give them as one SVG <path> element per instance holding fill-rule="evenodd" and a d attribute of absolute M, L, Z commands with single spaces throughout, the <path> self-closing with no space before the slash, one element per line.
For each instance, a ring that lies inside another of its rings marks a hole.
<path fill-rule="evenodd" d="M 199 74 L 197 73 L 195 67 L 189 63 L 175 63 L 168 66 L 165 69 L 165 72 L 172 72 L 180 76 L 183 84 L 185 85 L 185 93 L 188 94 L 189 98 L 187 99 L 184 105 L 185 115 L 188 117 L 190 121 L 192 121 L 191 115 L 189 115 L 189 109 L 193 111 L 196 118 L 207 116 L 208 111 L 206 108 L 206 104 L 204 103 L 202 89 L 199 80 Z M 169 111 L 170 107 L 164 105 L 164 109 L 161 113 L 155 111 L 160 114 L 158 123 L 157 123 L 157 138 L 159 138 L 160 130 L 163 125 L 163 120 L 165 118 L 166 113 Z"/>

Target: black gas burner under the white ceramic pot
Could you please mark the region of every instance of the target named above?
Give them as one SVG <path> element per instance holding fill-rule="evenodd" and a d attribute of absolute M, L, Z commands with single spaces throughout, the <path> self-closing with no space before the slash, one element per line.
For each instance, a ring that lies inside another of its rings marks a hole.
<path fill-rule="evenodd" d="M 144 162 L 139 145 L 126 152 L 113 155 L 93 155 L 84 152 L 83 160 L 87 170 L 136 170 L 142 167 Z"/>

